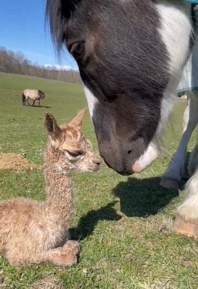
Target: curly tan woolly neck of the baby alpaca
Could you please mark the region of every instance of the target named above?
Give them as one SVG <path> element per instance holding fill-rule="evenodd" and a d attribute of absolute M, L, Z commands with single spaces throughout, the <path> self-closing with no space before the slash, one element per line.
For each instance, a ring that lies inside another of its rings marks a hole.
<path fill-rule="evenodd" d="M 74 211 L 72 181 L 70 171 L 61 172 L 58 169 L 57 154 L 51 154 L 50 150 L 45 154 L 44 175 L 47 193 L 45 211 L 53 216 L 55 223 L 58 222 L 59 226 L 64 227 L 69 225 Z"/>

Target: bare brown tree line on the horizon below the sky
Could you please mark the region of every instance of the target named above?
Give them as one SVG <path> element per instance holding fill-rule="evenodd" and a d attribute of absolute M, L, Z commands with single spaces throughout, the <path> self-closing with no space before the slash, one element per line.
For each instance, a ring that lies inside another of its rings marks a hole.
<path fill-rule="evenodd" d="M 24 57 L 22 52 L 14 53 L 0 46 L 0 71 L 5 73 L 23 74 L 37 76 L 47 79 L 81 83 L 80 74 L 75 70 L 57 70 L 55 67 L 50 69 L 32 63 Z"/>

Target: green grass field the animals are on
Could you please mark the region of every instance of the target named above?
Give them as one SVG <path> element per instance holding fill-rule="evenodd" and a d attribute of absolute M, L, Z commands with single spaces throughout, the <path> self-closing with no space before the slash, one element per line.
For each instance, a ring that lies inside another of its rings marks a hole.
<path fill-rule="evenodd" d="M 25 88 L 45 91 L 46 101 L 41 105 L 50 108 L 23 107 Z M 86 106 L 80 85 L 0 73 L 0 153 L 22 153 L 42 165 L 47 141 L 44 113 L 54 114 L 61 124 Z M 164 139 L 171 153 L 181 135 L 184 109 L 185 103 L 176 105 L 174 124 L 166 131 Z M 83 132 L 97 151 L 89 114 Z M 189 150 L 195 140 L 196 133 Z M 80 238 L 79 263 L 69 269 L 51 264 L 14 267 L 1 257 L 0 287 L 197 289 L 196 240 L 158 232 L 162 220 L 172 216 L 183 196 L 182 191 L 159 186 L 167 164 L 161 157 L 144 173 L 132 177 L 120 176 L 105 165 L 96 174 L 74 173 L 77 203 L 70 232 L 72 238 Z M 0 170 L 0 199 L 16 196 L 44 200 L 42 170 Z"/>

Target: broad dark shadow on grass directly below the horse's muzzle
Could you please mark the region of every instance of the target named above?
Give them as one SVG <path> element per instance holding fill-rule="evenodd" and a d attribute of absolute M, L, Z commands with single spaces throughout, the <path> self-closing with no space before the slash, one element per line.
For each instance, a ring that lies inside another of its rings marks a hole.
<path fill-rule="evenodd" d="M 164 208 L 179 191 L 159 186 L 160 177 L 137 179 L 129 177 L 120 182 L 113 194 L 120 199 L 120 211 L 128 217 L 155 215 Z"/>

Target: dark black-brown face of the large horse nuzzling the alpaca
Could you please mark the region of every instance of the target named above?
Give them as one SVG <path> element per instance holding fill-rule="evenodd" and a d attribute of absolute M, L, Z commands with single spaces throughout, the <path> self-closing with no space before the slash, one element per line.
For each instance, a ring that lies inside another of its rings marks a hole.
<path fill-rule="evenodd" d="M 160 9 L 151 0 L 47 1 L 57 49 L 65 43 L 78 63 L 100 155 L 121 174 L 141 171 L 136 170 L 137 160 L 170 111 L 164 92 L 172 55 L 161 35 Z M 164 31 L 167 39 L 168 33 L 172 37 L 170 28 Z M 173 54 L 188 42 L 176 43 Z M 183 54 L 179 68 L 187 58 Z"/>

